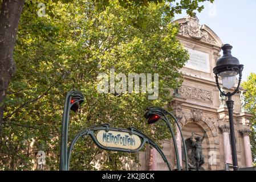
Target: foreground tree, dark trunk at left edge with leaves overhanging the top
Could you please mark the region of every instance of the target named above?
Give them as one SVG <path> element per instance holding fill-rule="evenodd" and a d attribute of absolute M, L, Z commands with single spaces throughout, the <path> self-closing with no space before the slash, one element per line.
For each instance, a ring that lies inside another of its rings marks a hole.
<path fill-rule="evenodd" d="M 55 0 L 54 2 L 58 2 Z M 119 0 L 120 5 L 127 7 L 131 2 L 136 5 L 147 6 L 149 2 L 160 3 L 162 0 L 148 0 L 148 1 L 128 1 Z M 199 12 L 204 9 L 204 6 L 199 6 L 198 2 L 204 2 L 209 0 L 193 0 L 193 1 L 181 1 L 176 3 L 176 6 L 169 7 L 169 14 L 174 15 L 174 13 L 181 13 L 181 10 L 185 9 L 190 15 L 194 14 L 194 10 Z M 213 2 L 214 0 L 210 0 Z M 52 1 L 42 1 L 45 3 L 50 3 Z M 72 0 L 62 0 L 61 2 L 72 2 Z M 108 6 L 109 0 L 95 1 L 100 2 L 101 6 Z M 169 0 L 167 2 L 174 2 L 174 0 Z M 22 8 L 25 0 L 15 1 L 15 0 L 1 0 L 1 13 L 0 13 L 0 125 L 3 119 L 3 100 L 6 97 L 6 91 L 8 89 L 11 78 L 15 72 L 15 62 L 13 60 L 13 50 L 15 45 L 15 38 L 18 30 L 19 18 L 22 13 Z M 27 6 L 30 8 L 35 8 L 37 1 L 27 0 Z"/>

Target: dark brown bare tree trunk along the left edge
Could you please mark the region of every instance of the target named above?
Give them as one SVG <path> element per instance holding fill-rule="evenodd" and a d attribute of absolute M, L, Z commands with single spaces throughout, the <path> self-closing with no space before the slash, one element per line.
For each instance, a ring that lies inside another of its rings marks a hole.
<path fill-rule="evenodd" d="M 3 0 L 0 13 L 0 128 L 3 122 L 3 99 L 14 75 L 13 51 L 19 18 L 25 0 Z M 1 130 L 1 129 L 0 129 Z M 1 133 L 0 133 L 1 134 Z"/>

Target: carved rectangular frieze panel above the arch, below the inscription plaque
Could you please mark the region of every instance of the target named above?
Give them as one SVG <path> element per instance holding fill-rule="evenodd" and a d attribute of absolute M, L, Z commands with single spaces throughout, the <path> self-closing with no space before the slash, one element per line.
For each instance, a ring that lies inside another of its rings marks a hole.
<path fill-rule="evenodd" d="M 204 101 L 204 102 L 213 102 L 212 92 L 208 90 L 192 88 L 190 86 L 182 85 L 180 89 L 178 89 L 178 93 L 183 98 L 189 98 L 197 101 Z"/>

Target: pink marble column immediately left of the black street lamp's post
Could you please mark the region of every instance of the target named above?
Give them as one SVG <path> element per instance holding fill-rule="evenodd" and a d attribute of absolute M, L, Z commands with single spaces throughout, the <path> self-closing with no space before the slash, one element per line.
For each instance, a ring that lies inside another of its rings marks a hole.
<path fill-rule="evenodd" d="M 219 126 L 223 134 L 225 163 L 233 164 L 229 139 L 229 125 L 227 123 Z"/>

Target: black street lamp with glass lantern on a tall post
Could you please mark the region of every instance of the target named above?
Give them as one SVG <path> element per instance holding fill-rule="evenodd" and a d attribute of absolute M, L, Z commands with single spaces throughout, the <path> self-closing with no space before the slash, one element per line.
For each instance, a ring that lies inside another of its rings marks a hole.
<path fill-rule="evenodd" d="M 233 107 L 234 101 L 231 97 L 235 93 L 239 93 L 239 86 L 242 80 L 243 65 L 239 64 L 239 60 L 231 55 L 231 49 L 233 47 L 229 44 L 225 44 L 221 47 L 223 51 L 223 56 L 218 59 L 216 67 L 213 68 L 213 73 L 215 74 L 216 84 L 220 90 L 221 96 L 226 96 L 228 100 L 226 101 L 227 109 L 229 110 L 229 125 L 230 125 L 230 138 L 231 138 L 231 149 L 232 149 L 232 159 L 233 159 L 233 169 L 238 171 L 237 163 L 237 150 L 235 147 L 235 131 L 233 122 Z M 222 84 L 224 88 L 231 89 L 235 85 L 235 77 L 239 75 L 237 88 L 233 92 L 224 92 L 221 90 L 220 83 L 218 82 L 218 77 L 221 76 Z"/>

